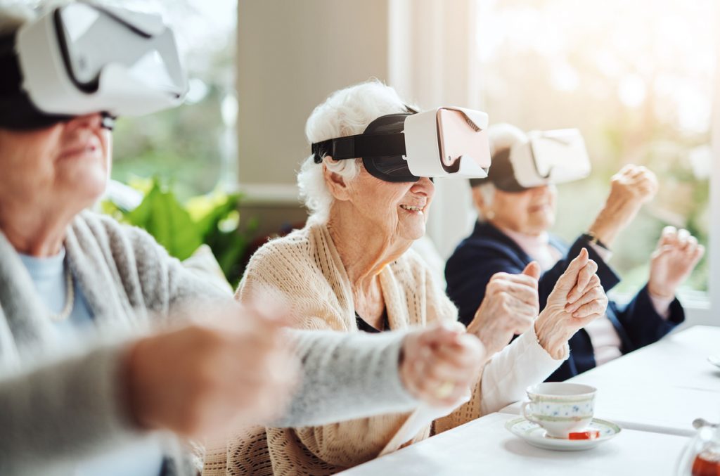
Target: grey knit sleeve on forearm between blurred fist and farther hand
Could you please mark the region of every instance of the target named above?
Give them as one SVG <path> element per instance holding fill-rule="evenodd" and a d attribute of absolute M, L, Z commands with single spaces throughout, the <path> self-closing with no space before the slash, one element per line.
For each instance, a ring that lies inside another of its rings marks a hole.
<path fill-rule="evenodd" d="M 418 405 L 398 372 L 404 333 L 289 334 L 302 360 L 302 381 L 287 413 L 273 426 L 318 426 Z"/>

